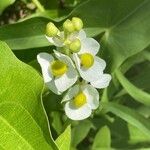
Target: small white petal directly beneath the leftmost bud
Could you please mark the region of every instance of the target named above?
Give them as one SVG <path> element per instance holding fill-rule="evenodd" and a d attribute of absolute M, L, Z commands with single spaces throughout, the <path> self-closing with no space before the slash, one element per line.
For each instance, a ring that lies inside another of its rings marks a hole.
<path fill-rule="evenodd" d="M 58 36 L 60 36 L 62 39 L 64 38 L 64 33 L 63 32 L 60 32 L 59 34 L 58 34 Z M 47 38 L 47 40 L 51 43 L 51 44 L 53 44 L 53 45 L 55 45 L 55 46 L 57 46 L 57 47 L 63 47 L 63 41 L 61 41 L 60 39 L 58 39 L 58 38 L 56 38 L 56 37 L 48 37 L 48 36 L 46 36 L 46 38 Z"/>

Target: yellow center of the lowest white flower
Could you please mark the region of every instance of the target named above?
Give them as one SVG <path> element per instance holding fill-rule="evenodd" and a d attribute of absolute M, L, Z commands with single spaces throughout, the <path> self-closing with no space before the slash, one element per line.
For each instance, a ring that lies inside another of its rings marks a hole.
<path fill-rule="evenodd" d="M 80 92 L 73 100 L 74 105 L 79 108 L 86 103 L 86 96 L 83 92 Z"/>

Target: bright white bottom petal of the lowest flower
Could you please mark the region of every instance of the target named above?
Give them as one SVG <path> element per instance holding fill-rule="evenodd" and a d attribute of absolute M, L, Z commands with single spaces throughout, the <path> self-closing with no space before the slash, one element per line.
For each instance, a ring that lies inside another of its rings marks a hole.
<path fill-rule="evenodd" d="M 74 107 L 72 101 L 69 101 L 65 104 L 65 113 L 68 118 L 72 120 L 83 120 L 91 115 L 92 110 L 88 104 L 85 104 L 80 108 L 76 108 Z"/>

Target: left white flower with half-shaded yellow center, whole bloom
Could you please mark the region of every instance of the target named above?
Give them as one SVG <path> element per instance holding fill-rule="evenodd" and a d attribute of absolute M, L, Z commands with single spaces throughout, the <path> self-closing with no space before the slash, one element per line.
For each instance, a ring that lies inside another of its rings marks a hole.
<path fill-rule="evenodd" d="M 54 93 L 62 94 L 77 81 L 78 73 L 68 56 L 56 51 L 54 54 L 57 60 L 48 53 L 38 54 L 37 60 L 46 85 Z"/>

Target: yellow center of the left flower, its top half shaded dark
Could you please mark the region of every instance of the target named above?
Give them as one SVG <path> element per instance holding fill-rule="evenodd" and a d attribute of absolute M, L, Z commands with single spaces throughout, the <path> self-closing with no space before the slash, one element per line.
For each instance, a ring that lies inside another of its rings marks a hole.
<path fill-rule="evenodd" d="M 53 61 L 50 67 L 54 76 L 61 76 L 68 70 L 67 65 L 60 60 Z"/>

